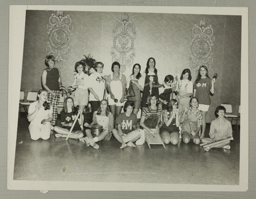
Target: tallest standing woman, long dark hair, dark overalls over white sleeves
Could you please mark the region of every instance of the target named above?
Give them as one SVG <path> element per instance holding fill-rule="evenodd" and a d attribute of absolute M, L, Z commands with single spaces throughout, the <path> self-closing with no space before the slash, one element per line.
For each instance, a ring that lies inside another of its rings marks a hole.
<path fill-rule="evenodd" d="M 155 94 L 155 97 L 158 99 L 158 88 L 162 87 L 162 75 L 161 72 L 155 68 L 155 59 L 153 57 L 148 59 L 147 67 L 143 76 L 145 78 L 145 84 L 142 93 L 141 107 L 147 107 L 148 105 L 146 103 L 148 96 L 150 94 Z"/>

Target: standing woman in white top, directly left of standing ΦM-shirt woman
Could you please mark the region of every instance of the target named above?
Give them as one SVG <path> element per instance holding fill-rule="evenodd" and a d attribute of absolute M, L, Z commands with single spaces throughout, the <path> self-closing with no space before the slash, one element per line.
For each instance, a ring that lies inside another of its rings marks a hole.
<path fill-rule="evenodd" d="M 179 94 L 177 96 L 180 113 L 184 111 L 184 108 L 189 109 L 189 100 L 193 95 L 193 83 L 191 79 L 190 70 L 188 68 L 184 69 L 180 78 L 181 84 L 179 85 Z"/>

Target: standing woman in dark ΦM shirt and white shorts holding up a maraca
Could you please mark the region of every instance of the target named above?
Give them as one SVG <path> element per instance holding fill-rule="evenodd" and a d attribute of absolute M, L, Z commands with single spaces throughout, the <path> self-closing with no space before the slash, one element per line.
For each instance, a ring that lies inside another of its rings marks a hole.
<path fill-rule="evenodd" d="M 210 106 L 210 93 L 214 94 L 214 83 L 216 79 L 210 79 L 206 66 L 201 66 L 194 82 L 194 97 L 199 101 L 198 109 L 202 111 L 202 133 L 200 139 L 204 138 L 206 127 L 206 114 Z"/>

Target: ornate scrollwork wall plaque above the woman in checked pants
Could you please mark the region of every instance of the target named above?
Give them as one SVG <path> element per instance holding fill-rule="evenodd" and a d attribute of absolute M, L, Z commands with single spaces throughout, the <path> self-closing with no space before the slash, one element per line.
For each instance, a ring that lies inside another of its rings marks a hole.
<path fill-rule="evenodd" d="M 54 55 L 55 67 L 61 68 L 71 52 L 70 49 L 70 31 L 73 30 L 71 26 L 71 18 L 64 11 L 56 11 L 51 14 L 49 24 L 47 24 L 47 33 L 49 34 L 49 41 L 47 42 L 48 55 Z"/>

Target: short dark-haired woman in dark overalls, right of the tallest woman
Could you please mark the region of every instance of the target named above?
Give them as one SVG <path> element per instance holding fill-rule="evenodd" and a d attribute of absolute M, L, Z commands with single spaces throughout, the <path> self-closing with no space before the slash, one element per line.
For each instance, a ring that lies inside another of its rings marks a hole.
<path fill-rule="evenodd" d="M 162 87 L 159 88 L 159 101 L 161 102 L 160 106 L 162 106 L 163 110 L 166 110 L 168 108 L 168 103 L 171 99 L 171 84 L 173 83 L 173 79 L 174 78 L 172 75 L 166 75 Z"/>

